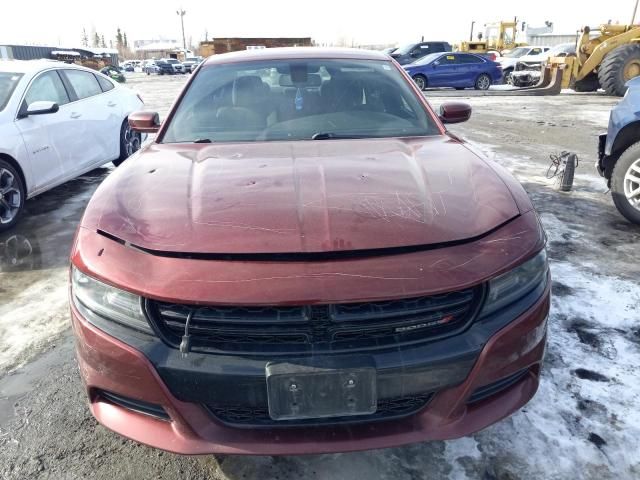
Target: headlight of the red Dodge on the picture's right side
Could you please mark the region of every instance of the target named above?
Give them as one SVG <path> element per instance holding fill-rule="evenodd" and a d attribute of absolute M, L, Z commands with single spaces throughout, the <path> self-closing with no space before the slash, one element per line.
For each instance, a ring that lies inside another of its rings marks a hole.
<path fill-rule="evenodd" d="M 547 281 L 547 251 L 489 282 L 489 293 L 480 316 L 484 317 L 515 302 Z"/>

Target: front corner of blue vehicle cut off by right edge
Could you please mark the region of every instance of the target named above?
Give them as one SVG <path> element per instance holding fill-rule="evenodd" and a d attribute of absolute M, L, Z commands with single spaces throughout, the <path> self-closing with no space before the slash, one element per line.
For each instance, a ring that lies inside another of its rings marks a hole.
<path fill-rule="evenodd" d="M 596 167 L 622 215 L 640 225 L 640 77 L 613 107 L 607 133 L 600 135 Z"/>

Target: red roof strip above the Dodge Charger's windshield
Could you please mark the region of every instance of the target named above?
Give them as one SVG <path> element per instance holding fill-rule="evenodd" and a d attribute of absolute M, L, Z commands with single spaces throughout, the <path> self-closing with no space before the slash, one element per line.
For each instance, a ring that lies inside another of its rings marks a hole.
<path fill-rule="evenodd" d="M 221 63 L 252 62 L 256 60 L 288 60 L 288 59 L 349 59 L 349 60 L 384 60 L 391 61 L 389 56 L 374 50 L 357 48 L 320 48 L 320 47 L 283 47 L 241 50 L 222 53 L 209 57 L 205 65 Z"/>

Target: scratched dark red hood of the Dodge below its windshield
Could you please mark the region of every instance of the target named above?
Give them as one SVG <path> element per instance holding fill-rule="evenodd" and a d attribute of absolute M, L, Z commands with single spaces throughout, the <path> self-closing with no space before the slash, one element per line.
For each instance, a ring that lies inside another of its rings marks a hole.
<path fill-rule="evenodd" d="M 99 188 L 84 225 L 154 250 L 291 253 L 476 237 L 519 214 L 446 136 L 152 144 Z"/>

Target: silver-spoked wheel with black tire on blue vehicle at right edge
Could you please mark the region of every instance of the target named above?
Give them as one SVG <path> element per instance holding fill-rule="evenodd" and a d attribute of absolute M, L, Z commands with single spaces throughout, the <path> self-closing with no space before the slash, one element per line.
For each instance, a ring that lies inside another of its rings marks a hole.
<path fill-rule="evenodd" d="M 618 211 L 640 225 L 640 142 L 627 148 L 614 165 L 611 196 Z"/>

